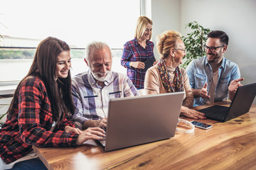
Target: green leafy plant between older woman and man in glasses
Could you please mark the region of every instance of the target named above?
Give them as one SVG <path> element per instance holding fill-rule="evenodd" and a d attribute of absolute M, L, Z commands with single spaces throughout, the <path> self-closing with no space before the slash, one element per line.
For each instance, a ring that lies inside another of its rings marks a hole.
<path fill-rule="evenodd" d="M 186 68 L 192 60 L 206 55 L 203 45 L 206 44 L 207 34 L 211 31 L 209 28 L 203 28 L 196 21 L 186 24 L 186 28 L 191 28 L 192 32 L 188 33 L 187 37 L 182 36 L 186 46 L 186 56 L 184 57 L 186 61 L 181 65 L 183 68 Z"/>

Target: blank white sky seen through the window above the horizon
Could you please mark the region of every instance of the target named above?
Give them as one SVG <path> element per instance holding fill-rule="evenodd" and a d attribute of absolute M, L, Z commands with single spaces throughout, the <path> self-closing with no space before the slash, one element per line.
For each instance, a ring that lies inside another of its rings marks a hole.
<path fill-rule="evenodd" d="M 3 4 L 1 4 L 3 5 Z M 129 0 L 9 0 L 1 8 L 1 35 L 44 39 L 53 36 L 85 47 L 103 40 L 122 47 L 134 36 L 139 1 Z"/>

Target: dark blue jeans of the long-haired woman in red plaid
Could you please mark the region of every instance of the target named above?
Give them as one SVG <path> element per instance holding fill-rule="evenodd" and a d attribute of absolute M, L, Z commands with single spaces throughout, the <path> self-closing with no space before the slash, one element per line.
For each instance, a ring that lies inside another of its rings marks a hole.
<path fill-rule="evenodd" d="M 41 162 L 39 158 L 28 159 L 23 162 L 18 162 L 14 164 L 14 167 L 11 170 L 47 170 L 46 166 Z"/>

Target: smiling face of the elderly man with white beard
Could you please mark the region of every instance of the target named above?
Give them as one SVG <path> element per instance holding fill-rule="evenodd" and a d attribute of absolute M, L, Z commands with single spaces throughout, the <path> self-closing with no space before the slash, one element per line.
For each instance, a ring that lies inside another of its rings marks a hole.
<path fill-rule="evenodd" d="M 90 53 L 89 63 L 85 60 L 90 67 L 92 76 L 97 81 L 105 81 L 107 74 L 111 71 L 112 55 L 108 47 L 102 50 L 93 50 Z"/>

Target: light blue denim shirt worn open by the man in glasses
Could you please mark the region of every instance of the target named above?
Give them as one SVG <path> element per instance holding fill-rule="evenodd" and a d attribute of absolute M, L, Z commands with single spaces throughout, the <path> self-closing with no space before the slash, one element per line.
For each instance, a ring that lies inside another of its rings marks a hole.
<path fill-rule="evenodd" d="M 210 89 L 211 79 L 213 77 L 213 69 L 207 61 L 207 57 L 200 57 L 193 60 L 186 68 L 189 83 L 193 89 L 201 89 L 207 82 L 207 92 Z M 214 91 L 214 101 L 223 101 L 228 99 L 228 86 L 234 79 L 240 78 L 238 64 L 231 62 L 223 57 L 223 62 L 218 69 L 218 82 Z M 195 98 L 194 106 L 203 105 L 206 100 L 203 98 Z"/>

